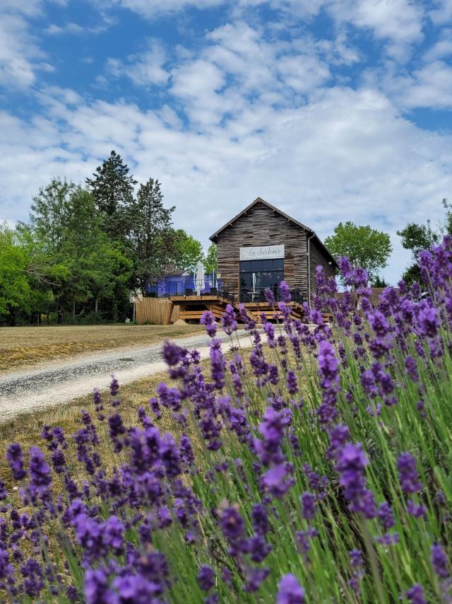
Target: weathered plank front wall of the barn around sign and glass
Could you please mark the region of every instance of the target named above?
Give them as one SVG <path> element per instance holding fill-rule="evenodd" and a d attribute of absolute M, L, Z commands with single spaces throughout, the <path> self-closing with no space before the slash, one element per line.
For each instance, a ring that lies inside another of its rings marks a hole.
<path fill-rule="evenodd" d="M 284 245 L 284 278 L 307 299 L 307 231 L 261 202 L 217 236 L 218 272 L 225 291 L 239 295 L 239 249 Z M 314 269 L 315 272 L 315 269 Z"/>

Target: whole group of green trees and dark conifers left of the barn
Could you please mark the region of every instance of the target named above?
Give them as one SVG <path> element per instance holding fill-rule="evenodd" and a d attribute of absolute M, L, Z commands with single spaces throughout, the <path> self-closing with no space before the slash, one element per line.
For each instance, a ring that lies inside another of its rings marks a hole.
<path fill-rule="evenodd" d="M 54 178 L 28 221 L 0 224 L 0 323 L 124 321 L 132 291 L 203 260 L 201 243 L 172 225 L 174 209 L 115 151 L 84 186 Z"/>

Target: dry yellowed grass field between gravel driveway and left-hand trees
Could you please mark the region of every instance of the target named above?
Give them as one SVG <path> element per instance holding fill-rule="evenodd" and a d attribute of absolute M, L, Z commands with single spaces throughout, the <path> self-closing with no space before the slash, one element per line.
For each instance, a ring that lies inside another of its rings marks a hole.
<path fill-rule="evenodd" d="M 0 372 L 87 352 L 146 346 L 202 332 L 202 325 L 1 327 Z"/>

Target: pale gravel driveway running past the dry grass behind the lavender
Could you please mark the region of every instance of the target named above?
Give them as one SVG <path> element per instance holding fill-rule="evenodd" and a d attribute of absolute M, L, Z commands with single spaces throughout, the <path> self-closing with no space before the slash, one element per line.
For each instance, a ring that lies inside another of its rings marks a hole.
<path fill-rule="evenodd" d="M 237 333 L 241 347 L 251 346 L 244 331 Z M 222 349 L 229 349 L 229 337 L 224 334 L 219 337 L 223 340 Z M 209 341 L 206 335 L 176 340 L 180 346 L 196 348 L 201 358 L 208 356 Z M 94 388 L 105 390 L 112 373 L 121 385 L 165 371 L 165 368 L 162 344 L 159 343 L 145 348 L 97 352 L 61 363 L 54 361 L 33 371 L 4 373 L 0 376 L 0 422 L 25 411 L 58 405 L 90 394 Z"/>

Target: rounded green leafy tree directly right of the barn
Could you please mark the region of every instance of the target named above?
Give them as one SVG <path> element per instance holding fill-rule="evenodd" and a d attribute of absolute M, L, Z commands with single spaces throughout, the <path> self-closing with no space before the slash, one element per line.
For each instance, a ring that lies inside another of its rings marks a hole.
<path fill-rule="evenodd" d="M 347 256 L 352 265 L 366 269 L 370 280 L 388 265 L 393 249 L 387 233 L 351 221 L 340 222 L 325 245 L 335 257 Z"/>

